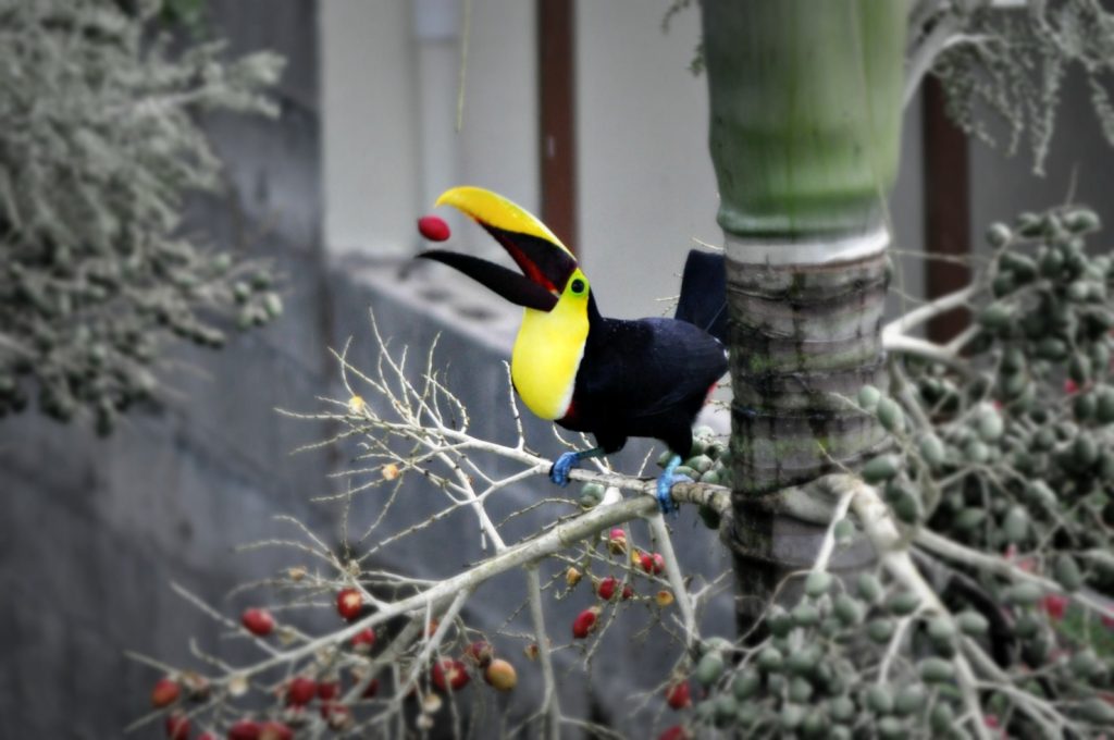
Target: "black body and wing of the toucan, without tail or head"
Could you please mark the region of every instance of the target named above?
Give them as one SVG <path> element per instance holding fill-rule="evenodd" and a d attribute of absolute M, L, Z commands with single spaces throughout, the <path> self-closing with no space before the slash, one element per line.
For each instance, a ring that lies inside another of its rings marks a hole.
<path fill-rule="evenodd" d="M 714 337 L 675 319 L 593 322 L 563 423 L 608 439 L 654 437 L 687 452 L 692 423 L 727 369 Z M 619 442 L 622 444 L 622 441 Z"/>

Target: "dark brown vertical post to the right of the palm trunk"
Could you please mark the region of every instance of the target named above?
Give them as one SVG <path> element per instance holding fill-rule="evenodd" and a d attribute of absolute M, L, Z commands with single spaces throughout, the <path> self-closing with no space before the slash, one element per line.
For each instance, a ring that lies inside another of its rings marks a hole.
<path fill-rule="evenodd" d="M 966 288 L 970 269 L 932 256 L 966 257 L 970 254 L 970 162 L 967 136 L 945 113 L 944 86 L 928 77 L 924 86 L 925 160 L 925 269 L 928 299 Z M 928 324 L 928 337 L 945 342 L 969 321 L 966 309 L 949 311 Z"/>

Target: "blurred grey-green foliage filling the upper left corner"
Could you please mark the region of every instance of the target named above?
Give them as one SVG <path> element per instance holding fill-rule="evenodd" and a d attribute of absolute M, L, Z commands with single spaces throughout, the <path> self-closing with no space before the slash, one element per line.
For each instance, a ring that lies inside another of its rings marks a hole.
<path fill-rule="evenodd" d="M 175 12 L 196 3 L 175 2 Z M 157 390 L 174 335 L 221 347 L 223 318 L 277 315 L 265 270 L 182 233 L 218 186 L 197 111 L 275 115 L 282 60 L 226 61 L 152 27 L 158 2 L 0 0 L 0 416 L 90 413 L 101 434 Z"/>

